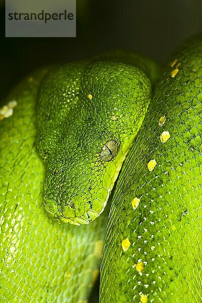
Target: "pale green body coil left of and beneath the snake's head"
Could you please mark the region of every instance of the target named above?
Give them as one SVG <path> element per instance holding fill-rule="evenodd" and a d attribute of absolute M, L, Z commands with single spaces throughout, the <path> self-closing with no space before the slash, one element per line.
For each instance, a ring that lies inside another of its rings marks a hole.
<path fill-rule="evenodd" d="M 107 213 L 77 227 L 43 210 L 44 167 L 35 147 L 42 75 L 20 83 L 8 97 L 18 102 L 13 115 L 0 121 L 0 301 L 84 303 L 98 274 Z"/>

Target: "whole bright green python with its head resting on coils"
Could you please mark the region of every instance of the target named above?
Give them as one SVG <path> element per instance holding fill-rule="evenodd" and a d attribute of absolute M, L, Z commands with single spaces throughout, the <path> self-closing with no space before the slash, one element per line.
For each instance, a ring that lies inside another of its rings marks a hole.
<path fill-rule="evenodd" d="M 201 301 L 201 36 L 159 71 L 108 52 L 4 100 L 1 302 L 87 302 L 101 258 L 100 302 Z"/>

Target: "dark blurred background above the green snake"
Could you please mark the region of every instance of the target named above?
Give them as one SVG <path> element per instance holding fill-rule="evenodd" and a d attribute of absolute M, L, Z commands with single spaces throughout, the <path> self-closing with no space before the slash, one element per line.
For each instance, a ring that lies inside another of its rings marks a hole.
<path fill-rule="evenodd" d="M 202 32 L 202 0 L 77 0 L 76 38 L 5 38 L 0 0 L 0 25 L 2 98 L 37 67 L 105 49 L 133 49 L 163 65 L 184 39 Z"/>

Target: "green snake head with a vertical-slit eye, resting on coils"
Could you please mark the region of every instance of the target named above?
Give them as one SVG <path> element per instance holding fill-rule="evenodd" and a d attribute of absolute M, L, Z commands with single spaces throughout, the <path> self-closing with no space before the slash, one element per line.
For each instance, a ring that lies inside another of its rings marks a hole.
<path fill-rule="evenodd" d="M 36 146 L 45 164 L 49 217 L 83 225 L 104 211 L 150 90 L 143 71 L 104 60 L 67 64 L 44 78 Z"/>

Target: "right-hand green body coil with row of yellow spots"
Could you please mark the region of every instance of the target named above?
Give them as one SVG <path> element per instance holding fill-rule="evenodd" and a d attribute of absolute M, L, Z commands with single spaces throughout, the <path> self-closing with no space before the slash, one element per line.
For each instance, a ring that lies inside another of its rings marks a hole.
<path fill-rule="evenodd" d="M 118 180 L 100 302 L 201 301 L 201 102 L 200 38 L 169 60 Z"/>

